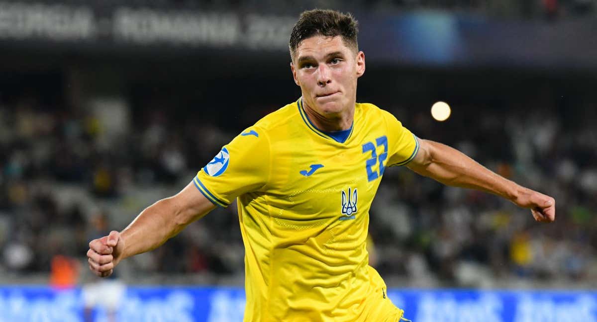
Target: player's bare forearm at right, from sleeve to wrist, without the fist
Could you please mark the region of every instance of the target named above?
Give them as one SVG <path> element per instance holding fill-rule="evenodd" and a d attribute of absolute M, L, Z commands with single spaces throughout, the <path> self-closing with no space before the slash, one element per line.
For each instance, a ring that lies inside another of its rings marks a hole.
<path fill-rule="evenodd" d="M 473 188 L 515 200 L 527 188 L 497 175 L 475 160 L 448 145 L 425 140 L 424 162 L 409 165 L 418 174 L 433 178 L 446 185 Z"/>

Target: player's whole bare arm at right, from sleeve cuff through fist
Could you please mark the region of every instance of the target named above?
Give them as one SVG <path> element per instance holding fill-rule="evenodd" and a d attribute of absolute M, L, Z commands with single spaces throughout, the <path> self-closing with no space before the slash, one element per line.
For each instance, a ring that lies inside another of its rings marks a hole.
<path fill-rule="evenodd" d="M 555 220 L 555 199 L 522 187 L 490 171 L 464 153 L 435 141 L 418 139 L 419 151 L 408 168 L 442 184 L 473 188 L 504 197 L 522 208 L 531 209 L 537 221 Z"/>

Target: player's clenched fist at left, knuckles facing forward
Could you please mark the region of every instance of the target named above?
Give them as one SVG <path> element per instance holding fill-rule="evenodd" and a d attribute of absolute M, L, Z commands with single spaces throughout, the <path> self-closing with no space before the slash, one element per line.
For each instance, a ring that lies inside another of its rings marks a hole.
<path fill-rule="evenodd" d="M 90 270 L 99 277 L 112 275 L 116 265 L 122 259 L 124 240 L 118 231 L 110 231 L 108 236 L 94 239 L 89 243 L 87 258 Z"/>

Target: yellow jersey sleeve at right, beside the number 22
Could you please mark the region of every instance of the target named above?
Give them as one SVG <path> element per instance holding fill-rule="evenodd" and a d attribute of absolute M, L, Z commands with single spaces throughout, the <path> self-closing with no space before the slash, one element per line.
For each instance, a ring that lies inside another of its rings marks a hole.
<path fill-rule="evenodd" d="M 385 111 L 384 111 L 385 112 Z M 387 166 L 403 166 L 411 162 L 418 152 L 418 139 L 392 114 L 385 112 L 389 138 Z"/>

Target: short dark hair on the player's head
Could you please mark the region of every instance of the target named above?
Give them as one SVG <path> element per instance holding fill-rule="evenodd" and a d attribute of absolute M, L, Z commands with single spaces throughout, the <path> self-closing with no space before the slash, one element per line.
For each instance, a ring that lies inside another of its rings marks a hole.
<path fill-rule="evenodd" d="M 290 33 L 290 57 L 294 59 L 294 52 L 298 44 L 312 36 L 341 36 L 344 44 L 358 50 L 356 41 L 358 36 L 358 21 L 350 13 L 340 13 L 334 10 L 313 9 L 303 11 L 293 31 Z"/>

